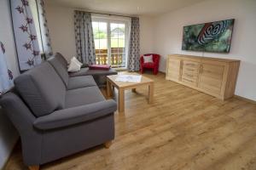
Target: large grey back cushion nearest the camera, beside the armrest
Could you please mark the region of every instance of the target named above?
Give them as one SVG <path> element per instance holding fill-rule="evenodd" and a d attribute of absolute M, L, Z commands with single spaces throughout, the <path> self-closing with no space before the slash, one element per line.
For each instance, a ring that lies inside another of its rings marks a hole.
<path fill-rule="evenodd" d="M 66 87 L 48 62 L 15 78 L 15 88 L 35 116 L 64 108 Z"/>

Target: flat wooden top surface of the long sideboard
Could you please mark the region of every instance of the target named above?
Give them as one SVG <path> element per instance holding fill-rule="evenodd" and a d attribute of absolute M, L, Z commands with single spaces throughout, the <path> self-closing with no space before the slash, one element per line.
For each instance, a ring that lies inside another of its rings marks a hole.
<path fill-rule="evenodd" d="M 186 54 L 169 54 L 168 57 L 178 58 L 178 59 L 191 59 L 191 60 L 212 60 L 212 61 L 222 61 L 222 62 L 240 62 L 238 59 L 221 59 L 213 57 L 200 57 L 195 55 L 186 55 Z"/>

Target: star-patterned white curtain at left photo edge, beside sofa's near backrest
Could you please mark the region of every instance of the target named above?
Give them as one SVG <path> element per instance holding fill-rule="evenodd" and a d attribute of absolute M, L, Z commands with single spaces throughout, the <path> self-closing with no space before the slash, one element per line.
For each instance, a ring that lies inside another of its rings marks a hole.
<path fill-rule="evenodd" d="M 0 95 L 9 90 L 13 86 L 12 72 L 8 69 L 5 60 L 5 49 L 3 43 L 0 42 Z"/>

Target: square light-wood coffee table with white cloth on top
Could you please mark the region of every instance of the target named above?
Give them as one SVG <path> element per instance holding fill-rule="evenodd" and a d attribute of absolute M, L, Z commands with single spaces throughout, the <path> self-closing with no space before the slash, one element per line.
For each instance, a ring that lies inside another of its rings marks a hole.
<path fill-rule="evenodd" d="M 137 73 L 125 73 L 123 75 L 139 75 Z M 115 79 L 119 75 L 107 76 L 107 94 L 108 98 L 113 94 L 113 87 L 119 91 L 119 113 L 125 111 L 125 90 L 132 89 L 133 92 L 140 86 L 148 86 L 148 104 L 153 102 L 154 98 L 154 81 L 148 77 L 142 76 L 141 82 L 118 82 Z"/>

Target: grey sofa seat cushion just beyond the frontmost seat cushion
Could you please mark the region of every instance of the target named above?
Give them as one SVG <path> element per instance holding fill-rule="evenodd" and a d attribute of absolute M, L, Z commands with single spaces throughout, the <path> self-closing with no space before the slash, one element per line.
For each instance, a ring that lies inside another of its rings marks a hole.
<path fill-rule="evenodd" d="M 91 76 L 84 77 L 70 77 L 67 83 L 67 89 L 75 89 L 75 88 L 86 88 L 90 86 L 96 86 L 96 82 Z"/>

